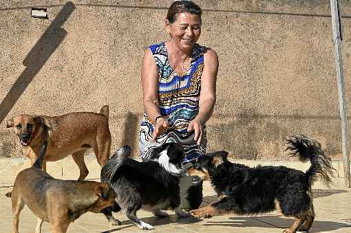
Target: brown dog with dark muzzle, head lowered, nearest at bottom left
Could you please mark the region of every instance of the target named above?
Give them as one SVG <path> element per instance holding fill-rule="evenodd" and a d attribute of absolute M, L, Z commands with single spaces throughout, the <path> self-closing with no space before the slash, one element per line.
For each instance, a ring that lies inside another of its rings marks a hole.
<path fill-rule="evenodd" d="M 13 233 L 19 232 L 19 214 L 25 205 L 38 217 L 35 233 L 41 232 L 43 221 L 50 222 L 53 233 L 64 233 L 68 225 L 85 212 L 98 213 L 115 208 L 116 192 L 107 184 L 96 181 L 63 181 L 41 169 L 47 142 L 32 167 L 22 170 L 14 181 L 11 197 Z"/>

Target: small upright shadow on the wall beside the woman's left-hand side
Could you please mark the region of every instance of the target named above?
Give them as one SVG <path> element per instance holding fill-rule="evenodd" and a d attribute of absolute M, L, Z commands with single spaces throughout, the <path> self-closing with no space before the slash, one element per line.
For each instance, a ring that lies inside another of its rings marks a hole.
<path fill-rule="evenodd" d="M 128 111 L 125 117 L 125 124 L 123 130 L 123 140 L 122 145 L 131 146 L 131 154 L 134 156 L 138 156 L 136 151 L 138 148 L 134 148 L 136 140 L 138 140 L 138 130 L 139 130 L 139 121 L 138 115 Z"/>

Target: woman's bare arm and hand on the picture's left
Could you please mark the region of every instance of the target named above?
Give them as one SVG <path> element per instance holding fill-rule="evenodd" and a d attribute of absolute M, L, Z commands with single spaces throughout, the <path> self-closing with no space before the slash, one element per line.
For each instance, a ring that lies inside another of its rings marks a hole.
<path fill-rule="evenodd" d="M 156 140 L 156 137 L 167 130 L 169 122 L 164 118 L 158 118 L 154 122 L 156 117 L 161 115 L 161 113 L 158 104 L 158 70 L 150 49 L 147 49 L 142 59 L 141 83 L 142 103 L 144 104 L 147 118 L 155 124 L 153 140 Z"/>

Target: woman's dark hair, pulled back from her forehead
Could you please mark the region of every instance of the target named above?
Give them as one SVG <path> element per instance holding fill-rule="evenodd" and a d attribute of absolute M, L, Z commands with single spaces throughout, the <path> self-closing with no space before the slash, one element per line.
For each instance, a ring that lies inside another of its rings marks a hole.
<path fill-rule="evenodd" d="M 197 14 L 201 22 L 202 10 L 200 6 L 193 3 L 193 1 L 174 1 L 172 5 L 168 8 L 167 18 L 169 23 L 174 23 L 177 21 L 177 16 L 179 13 L 188 12 L 190 14 Z"/>

